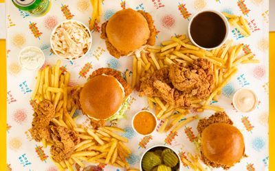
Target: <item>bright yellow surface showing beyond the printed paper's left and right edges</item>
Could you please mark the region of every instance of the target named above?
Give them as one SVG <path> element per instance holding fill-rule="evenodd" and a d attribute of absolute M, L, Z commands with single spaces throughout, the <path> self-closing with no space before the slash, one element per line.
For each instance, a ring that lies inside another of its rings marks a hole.
<path fill-rule="evenodd" d="M 4 0 L 0 0 L 3 3 Z M 270 33 L 270 170 L 275 170 L 275 33 Z M 0 170 L 6 170 L 6 64 L 5 64 L 5 40 L 0 40 Z"/>

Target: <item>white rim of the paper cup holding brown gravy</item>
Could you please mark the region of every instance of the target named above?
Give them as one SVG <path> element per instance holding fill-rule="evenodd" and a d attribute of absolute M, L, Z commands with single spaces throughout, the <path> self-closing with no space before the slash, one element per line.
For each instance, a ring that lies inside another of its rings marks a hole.
<path fill-rule="evenodd" d="M 212 47 L 212 48 L 205 48 L 205 47 L 201 47 L 199 46 L 199 44 L 197 44 L 193 39 L 192 39 L 192 36 L 190 34 L 190 27 L 191 27 L 191 23 L 193 21 L 193 19 L 201 14 L 202 12 L 214 12 L 215 14 L 218 14 L 221 19 L 223 19 L 223 22 L 225 23 L 225 29 L 226 29 L 226 32 L 225 32 L 225 37 L 223 38 L 223 41 L 217 46 L 217 47 Z M 211 9 L 205 9 L 205 10 L 201 10 L 200 12 L 197 12 L 197 14 L 195 14 L 194 16 L 192 16 L 192 18 L 190 19 L 190 22 L 188 24 L 188 36 L 189 36 L 189 39 L 190 41 L 192 42 L 192 44 L 195 44 L 197 47 L 201 48 L 201 49 L 205 49 L 205 50 L 212 50 L 212 49 L 216 49 L 216 48 L 219 48 L 221 47 L 221 45 L 223 45 L 225 43 L 225 41 L 228 39 L 228 34 L 229 34 L 229 30 L 230 30 L 230 25 L 228 23 L 228 19 L 221 13 L 221 12 L 218 12 L 216 10 L 211 10 Z"/>

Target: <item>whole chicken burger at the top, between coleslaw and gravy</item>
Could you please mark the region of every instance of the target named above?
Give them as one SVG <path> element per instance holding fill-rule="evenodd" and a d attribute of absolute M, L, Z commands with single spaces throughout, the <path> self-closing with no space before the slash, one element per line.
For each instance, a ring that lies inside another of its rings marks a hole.
<path fill-rule="evenodd" d="M 143 45 L 155 44 L 155 26 L 150 14 L 142 10 L 120 10 L 102 24 L 101 38 L 111 55 L 119 58 L 129 55 Z"/>

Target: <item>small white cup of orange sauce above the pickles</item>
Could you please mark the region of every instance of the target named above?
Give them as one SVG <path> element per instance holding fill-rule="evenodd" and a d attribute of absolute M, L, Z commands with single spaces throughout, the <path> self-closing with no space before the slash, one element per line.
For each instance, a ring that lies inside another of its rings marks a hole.
<path fill-rule="evenodd" d="M 142 118 L 143 116 L 145 116 L 144 114 L 142 113 L 148 113 L 148 114 L 151 114 L 151 118 Z M 140 116 L 139 116 L 140 115 Z M 153 124 L 155 125 L 148 125 L 150 124 L 150 122 L 153 122 Z M 152 127 L 151 128 L 151 132 L 149 133 L 140 133 L 137 129 L 139 128 L 135 128 L 135 125 L 140 125 L 146 129 L 148 129 L 148 127 Z M 133 130 L 137 133 L 137 134 L 140 134 L 142 136 L 148 136 L 148 135 L 151 135 L 155 129 L 157 128 L 157 117 L 155 116 L 155 114 L 153 114 L 153 112 L 151 111 L 148 111 L 148 110 L 141 110 L 141 111 L 138 111 L 134 116 L 133 116 L 133 119 L 132 119 L 132 127 L 133 127 Z"/>

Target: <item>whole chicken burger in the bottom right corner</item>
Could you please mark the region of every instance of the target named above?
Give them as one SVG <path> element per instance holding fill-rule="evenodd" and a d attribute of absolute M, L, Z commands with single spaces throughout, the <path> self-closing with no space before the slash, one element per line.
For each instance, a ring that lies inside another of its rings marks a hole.
<path fill-rule="evenodd" d="M 199 121 L 198 148 L 203 163 L 227 170 L 245 155 L 243 135 L 232 124 L 232 120 L 224 112 Z"/>

